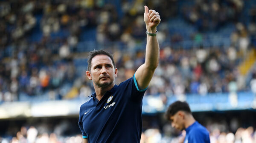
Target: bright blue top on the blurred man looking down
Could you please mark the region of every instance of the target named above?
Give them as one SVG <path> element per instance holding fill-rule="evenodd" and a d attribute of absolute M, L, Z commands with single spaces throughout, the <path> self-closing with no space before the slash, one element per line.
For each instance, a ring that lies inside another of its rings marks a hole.
<path fill-rule="evenodd" d="M 185 130 L 186 137 L 184 143 L 210 143 L 209 132 L 197 121 Z"/>

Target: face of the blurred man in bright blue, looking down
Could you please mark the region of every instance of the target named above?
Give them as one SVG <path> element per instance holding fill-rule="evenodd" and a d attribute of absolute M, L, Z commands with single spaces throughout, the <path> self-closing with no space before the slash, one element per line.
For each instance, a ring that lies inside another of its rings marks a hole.
<path fill-rule="evenodd" d="M 172 122 L 172 127 L 180 131 L 185 129 L 183 119 L 184 119 L 184 114 L 183 112 L 180 112 L 180 111 L 178 111 L 175 115 L 171 116 L 170 121 Z"/>

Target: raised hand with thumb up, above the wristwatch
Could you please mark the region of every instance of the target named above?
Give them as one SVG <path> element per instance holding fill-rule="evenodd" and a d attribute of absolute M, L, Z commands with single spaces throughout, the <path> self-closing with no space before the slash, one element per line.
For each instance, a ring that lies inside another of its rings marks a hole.
<path fill-rule="evenodd" d="M 155 10 L 149 10 L 148 6 L 144 6 L 144 22 L 146 24 L 147 31 L 149 33 L 155 33 L 157 31 L 157 25 L 160 23 L 160 15 Z"/>

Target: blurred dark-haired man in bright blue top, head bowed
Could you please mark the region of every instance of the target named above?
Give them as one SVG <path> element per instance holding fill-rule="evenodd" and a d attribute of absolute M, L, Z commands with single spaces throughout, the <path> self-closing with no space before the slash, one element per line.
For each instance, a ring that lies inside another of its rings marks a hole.
<path fill-rule="evenodd" d="M 166 111 L 166 118 L 172 122 L 172 127 L 180 131 L 186 130 L 184 143 L 210 143 L 209 132 L 195 121 L 186 102 L 172 103 Z"/>

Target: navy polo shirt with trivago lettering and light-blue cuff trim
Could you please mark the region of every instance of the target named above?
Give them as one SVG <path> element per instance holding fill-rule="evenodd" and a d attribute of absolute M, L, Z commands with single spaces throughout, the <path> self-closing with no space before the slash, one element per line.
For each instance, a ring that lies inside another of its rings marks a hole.
<path fill-rule="evenodd" d="M 82 104 L 79 128 L 89 143 L 140 143 L 142 99 L 135 74 L 107 91 L 100 101 L 96 94 Z"/>

